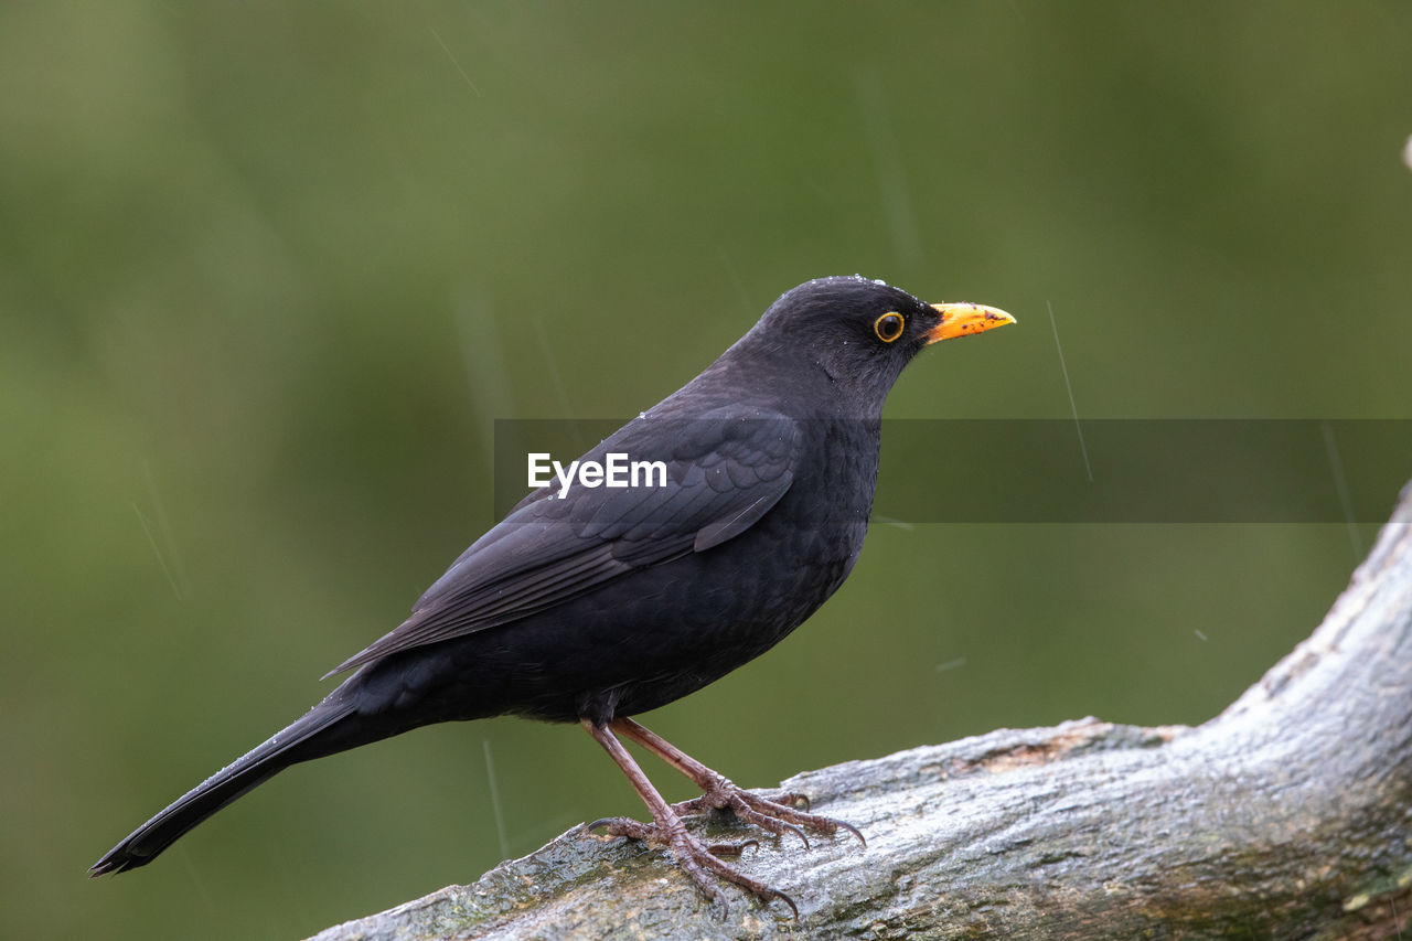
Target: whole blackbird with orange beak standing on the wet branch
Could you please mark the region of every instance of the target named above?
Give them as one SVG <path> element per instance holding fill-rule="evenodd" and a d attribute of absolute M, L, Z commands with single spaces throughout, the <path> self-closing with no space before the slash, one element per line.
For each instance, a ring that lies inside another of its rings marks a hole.
<path fill-rule="evenodd" d="M 582 723 L 652 812 L 651 824 L 594 827 L 666 844 L 709 899 L 724 896 L 707 872 L 795 909 L 717 859 L 738 845 L 707 846 L 682 817 L 729 808 L 775 835 L 857 831 L 801 811 L 794 795 L 736 787 L 630 716 L 758 657 L 843 584 L 873 507 L 882 401 L 902 367 L 923 346 L 1012 322 L 857 276 L 788 291 L 696 379 L 583 456 L 661 461 L 665 482 L 532 492 L 411 617 L 332 671 L 353 675 L 138 827 L 90 875 L 150 863 L 298 762 L 432 722 L 513 714 Z M 668 805 L 614 733 L 662 757 L 702 797 Z"/>

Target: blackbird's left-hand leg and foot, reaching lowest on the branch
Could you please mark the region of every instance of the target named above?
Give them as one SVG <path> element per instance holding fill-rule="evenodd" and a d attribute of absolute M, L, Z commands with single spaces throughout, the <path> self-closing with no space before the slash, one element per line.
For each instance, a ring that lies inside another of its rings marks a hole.
<path fill-rule="evenodd" d="M 672 855 L 676 856 L 676 865 L 690 876 L 690 880 L 696 883 L 696 889 L 700 890 L 703 896 L 712 901 L 726 904 L 726 897 L 722 894 L 720 889 L 712 882 L 710 876 L 706 875 L 707 870 L 716 873 L 716 876 L 724 879 L 729 883 L 740 886 L 746 892 L 751 893 L 764 903 L 770 903 L 774 899 L 789 906 L 794 917 L 799 917 L 799 909 L 795 906 L 794 900 L 778 889 L 771 889 L 762 882 L 751 879 L 740 872 L 736 872 L 722 860 L 716 859 L 712 853 L 712 846 L 700 842 L 689 832 L 686 832 L 686 825 L 682 824 L 682 818 L 672 810 L 672 807 L 662 800 L 662 795 L 657 793 L 652 783 L 647 780 L 647 774 L 638 767 L 628 750 L 623 747 L 623 743 L 617 740 L 613 732 L 603 725 L 596 725 L 592 719 L 583 719 L 583 728 L 593 736 L 593 740 L 603 746 L 603 750 L 617 762 L 617 766 L 623 769 L 627 780 L 633 783 L 633 788 L 637 790 L 638 797 L 647 804 L 647 808 L 652 812 L 652 824 L 642 824 L 635 819 L 627 818 L 613 818 L 602 819 L 589 824 L 589 828 L 606 827 L 609 834 L 614 836 L 630 836 L 633 839 L 647 839 L 661 844 L 666 844 Z"/>

